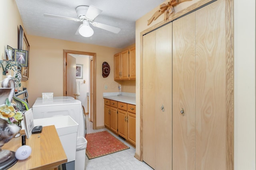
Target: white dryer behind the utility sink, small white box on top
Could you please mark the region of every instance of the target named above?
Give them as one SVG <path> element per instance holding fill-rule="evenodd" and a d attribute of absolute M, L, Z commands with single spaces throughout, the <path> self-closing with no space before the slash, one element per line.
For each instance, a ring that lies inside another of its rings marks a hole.
<path fill-rule="evenodd" d="M 53 97 L 53 99 L 37 98 L 32 106 L 34 119 L 69 115 L 78 123 L 77 137 L 86 135 L 86 117 L 82 104 L 70 96 Z"/>

